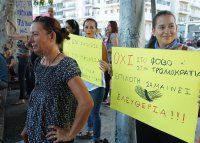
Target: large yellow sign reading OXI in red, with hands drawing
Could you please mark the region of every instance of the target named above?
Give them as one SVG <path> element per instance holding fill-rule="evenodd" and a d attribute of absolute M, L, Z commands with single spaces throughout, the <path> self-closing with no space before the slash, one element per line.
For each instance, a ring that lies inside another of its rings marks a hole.
<path fill-rule="evenodd" d="M 111 107 L 194 143 L 200 52 L 112 49 Z"/>

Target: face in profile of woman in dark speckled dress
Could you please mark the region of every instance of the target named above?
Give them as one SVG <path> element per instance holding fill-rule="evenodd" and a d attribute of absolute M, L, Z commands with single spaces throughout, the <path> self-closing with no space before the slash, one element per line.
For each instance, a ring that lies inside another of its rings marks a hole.
<path fill-rule="evenodd" d="M 43 55 L 51 47 L 52 32 L 47 32 L 39 22 L 31 24 L 30 32 L 31 38 L 29 42 L 32 44 L 33 52 Z"/>

